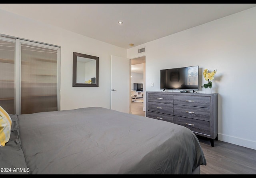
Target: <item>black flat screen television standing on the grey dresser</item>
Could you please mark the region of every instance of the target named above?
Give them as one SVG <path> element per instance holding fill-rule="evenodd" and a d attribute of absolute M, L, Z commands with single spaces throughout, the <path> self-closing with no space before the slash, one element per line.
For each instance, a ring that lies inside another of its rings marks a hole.
<path fill-rule="evenodd" d="M 199 90 L 199 66 L 160 70 L 160 89 Z"/>

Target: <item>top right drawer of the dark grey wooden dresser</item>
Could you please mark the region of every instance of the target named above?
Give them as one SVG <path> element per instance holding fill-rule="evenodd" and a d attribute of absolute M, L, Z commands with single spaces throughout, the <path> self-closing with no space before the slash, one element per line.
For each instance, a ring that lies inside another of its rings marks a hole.
<path fill-rule="evenodd" d="M 209 96 L 174 96 L 173 103 L 185 106 L 197 106 L 210 108 L 210 97 Z"/>

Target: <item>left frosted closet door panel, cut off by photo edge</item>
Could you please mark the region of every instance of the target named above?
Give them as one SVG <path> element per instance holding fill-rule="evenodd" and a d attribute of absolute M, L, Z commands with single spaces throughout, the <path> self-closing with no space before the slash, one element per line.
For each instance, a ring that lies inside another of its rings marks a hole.
<path fill-rule="evenodd" d="M 0 38 L 0 106 L 15 113 L 14 90 L 15 40 Z"/>

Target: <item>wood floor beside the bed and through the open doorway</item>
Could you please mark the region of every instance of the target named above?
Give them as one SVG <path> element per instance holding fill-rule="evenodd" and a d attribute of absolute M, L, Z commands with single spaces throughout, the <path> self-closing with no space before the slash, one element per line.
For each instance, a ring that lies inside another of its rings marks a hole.
<path fill-rule="evenodd" d="M 132 102 L 132 114 L 145 116 L 143 103 Z M 206 158 L 201 174 L 256 174 L 256 150 L 198 136 Z"/>

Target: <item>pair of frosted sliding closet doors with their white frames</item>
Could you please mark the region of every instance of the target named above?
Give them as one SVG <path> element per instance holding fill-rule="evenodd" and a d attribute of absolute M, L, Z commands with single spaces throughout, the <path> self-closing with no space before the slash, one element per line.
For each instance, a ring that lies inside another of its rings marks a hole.
<path fill-rule="evenodd" d="M 60 47 L 0 34 L 0 106 L 9 114 L 60 110 Z"/>

